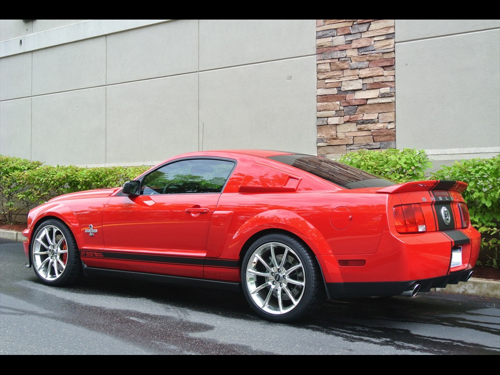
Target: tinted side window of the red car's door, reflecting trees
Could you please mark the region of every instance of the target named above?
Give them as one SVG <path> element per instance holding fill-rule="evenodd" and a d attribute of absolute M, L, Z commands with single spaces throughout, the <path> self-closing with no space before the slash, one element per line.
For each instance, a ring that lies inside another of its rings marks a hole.
<path fill-rule="evenodd" d="M 141 183 L 141 195 L 221 192 L 234 162 L 186 159 L 153 170 Z"/>

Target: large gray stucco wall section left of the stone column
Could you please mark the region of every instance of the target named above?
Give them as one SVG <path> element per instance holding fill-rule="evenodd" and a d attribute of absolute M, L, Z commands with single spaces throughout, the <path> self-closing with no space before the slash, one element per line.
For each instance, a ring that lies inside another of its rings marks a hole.
<path fill-rule="evenodd" d="M 0 33 L 1 154 L 316 152 L 314 20 L 1 20 Z"/>

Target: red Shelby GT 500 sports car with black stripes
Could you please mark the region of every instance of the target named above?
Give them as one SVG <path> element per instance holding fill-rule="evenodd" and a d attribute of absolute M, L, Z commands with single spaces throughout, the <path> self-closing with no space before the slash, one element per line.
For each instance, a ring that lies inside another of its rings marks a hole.
<path fill-rule="evenodd" d="M 395 184 L 293 152 L 190 152 L 32 209 L 24 251 L 47 285 L 119 274 L 237 288 L 260 317 L 289 322 L 325 298 L 467 281 L 480 234 L 466 186 Z"/>

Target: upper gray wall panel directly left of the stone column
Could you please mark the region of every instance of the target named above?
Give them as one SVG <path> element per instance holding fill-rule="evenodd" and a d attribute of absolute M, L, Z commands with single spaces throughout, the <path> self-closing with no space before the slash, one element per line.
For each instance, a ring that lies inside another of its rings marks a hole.
<path fill-rule="evenodd" d="M 315 54 L 315 30 L 314 19 L 201 19 L 199 68 Z"/>

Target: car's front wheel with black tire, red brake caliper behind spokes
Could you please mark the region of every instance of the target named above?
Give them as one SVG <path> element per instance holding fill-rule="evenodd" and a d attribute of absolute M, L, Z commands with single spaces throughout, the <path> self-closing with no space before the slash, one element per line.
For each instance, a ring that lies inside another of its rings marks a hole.
<path fill-rule="evenodd" d="M 57 219 L 46 220 L 36 229 L 30 257 L 36 276 L 45 285 L 67 285 L 83 274 L 74 236 Z"/>

